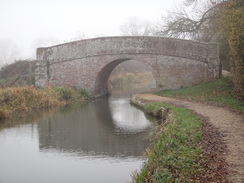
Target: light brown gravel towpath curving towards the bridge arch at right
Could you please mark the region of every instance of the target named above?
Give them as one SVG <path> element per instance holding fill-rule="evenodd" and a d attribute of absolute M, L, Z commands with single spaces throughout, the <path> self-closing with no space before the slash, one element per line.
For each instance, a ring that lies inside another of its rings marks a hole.
<path fill-rule="evenodd" d="M 161 97 L 154 94 L 138 94 L 134 98 L 144 102 L 164 102 L 188 108 L 205 117 L 215 128 L 223 134 L 223 141 L 227 147 L 224 155 L 229 165 L 228 179 L 233 183 L 244 183 L 244 115 L 232 112 L 223 107 Z"/>

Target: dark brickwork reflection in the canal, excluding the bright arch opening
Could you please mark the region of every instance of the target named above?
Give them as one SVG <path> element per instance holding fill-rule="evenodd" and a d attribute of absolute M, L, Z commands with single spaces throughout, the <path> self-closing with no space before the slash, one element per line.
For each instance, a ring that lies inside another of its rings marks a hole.
<path fill-rule="evenodd" d="M 96 155 L 141 156 L 149 145 L 150 131 L 116 134 L 107 98 L 90 102 L 84 108 L 62 111 L 38 123 L 40 149 Z M 130 142 L 130 143 L 128 143 Z"/>

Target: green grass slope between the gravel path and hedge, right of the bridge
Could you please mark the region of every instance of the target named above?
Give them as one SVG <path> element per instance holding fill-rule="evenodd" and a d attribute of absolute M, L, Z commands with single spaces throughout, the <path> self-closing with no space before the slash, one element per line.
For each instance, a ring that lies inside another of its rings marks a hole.
<path fill-rule="evenodd" d="M 244 111 L 244 101 L 237 97 L 234 93 L 233 84 L 226 78 L 179 90 L 161 91 L 157 94 L 198 102 L 208 102 Z"/>

